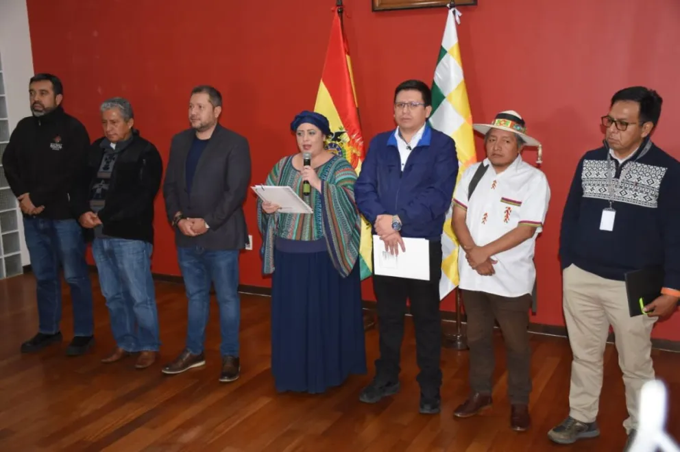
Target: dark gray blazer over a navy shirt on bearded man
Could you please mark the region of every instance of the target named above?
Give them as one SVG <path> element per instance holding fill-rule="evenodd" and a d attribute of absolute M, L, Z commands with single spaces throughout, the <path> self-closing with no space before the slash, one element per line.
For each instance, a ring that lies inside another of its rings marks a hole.
<path fill-rule="evenodd" d="M 248 241 L 243 215 L 250 183 L 248 141 L 218 124 L 198 161 L 189 194 L 185 165 L 194 137 L 195 130 L 187 129 L 172 139 L 163 182 L 165 210 L 171 222 L 177 212 L 182 212 L 187 217 L 203 218 L 210 229 L 189 237 L 175 228 L 175 244 L 210 250 L 244 249 Z"/>

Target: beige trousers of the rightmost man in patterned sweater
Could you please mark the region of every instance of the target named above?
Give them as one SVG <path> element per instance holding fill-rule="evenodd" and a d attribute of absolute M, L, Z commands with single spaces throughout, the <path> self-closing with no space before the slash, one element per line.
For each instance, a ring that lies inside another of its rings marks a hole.
<path fill-rule="evenodd" d="M 563 271 L 563 307 L 572 361 L 570 416 L 591 423 L 597 417 L 603 355 L 609 325 L 614 328 L 618 364 L 626 387 L 626 431 L 637 429 L 640 390 L 654 379 L 652 327 L 656 318 L 631 317 L 623 281 L 605 279 L 570 265 Z"/>

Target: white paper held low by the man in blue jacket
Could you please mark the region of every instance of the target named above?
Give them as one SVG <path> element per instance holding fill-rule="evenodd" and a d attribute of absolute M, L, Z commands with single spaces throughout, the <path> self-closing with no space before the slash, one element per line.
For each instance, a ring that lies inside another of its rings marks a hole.
<path fill-rule="evenodd" d="M 404 248 L 398 255 L 385 251 L 385 242 L 373 236 L 373 273 L 383 276 L 430 280 L 430 242 L 424 238 L 403 238 Z"/>

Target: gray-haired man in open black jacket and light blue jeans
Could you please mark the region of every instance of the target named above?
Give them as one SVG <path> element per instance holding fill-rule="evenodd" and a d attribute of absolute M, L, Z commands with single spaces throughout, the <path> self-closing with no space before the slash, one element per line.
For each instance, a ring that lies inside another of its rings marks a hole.
<path fill-rule="evenodd" d="M 151 251 L 163 164 L 156 147 L 133 129 L 129 101 L 115 97 L 100 110 L 104 137 L 90 147 L 82 190 L 74 190 L 71 201 L 94 238 L 99 286 L 117 344 L 101 361 L 140 352 L 136 368 L 147 368 L 160 347 Z"/>

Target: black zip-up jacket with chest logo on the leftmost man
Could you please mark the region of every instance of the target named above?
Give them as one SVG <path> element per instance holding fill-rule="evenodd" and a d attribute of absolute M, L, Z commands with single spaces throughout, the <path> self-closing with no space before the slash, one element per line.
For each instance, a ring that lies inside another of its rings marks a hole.
<path fill-rule="evenodd" d="M 16 197 L 28 193 L 36 207 L 45 206 L 38 218 L 74 218 L 69 192 L 89 147 L 84 125 L 61 106 L 23 118 L 3 153 L 5 177 Z"/>

